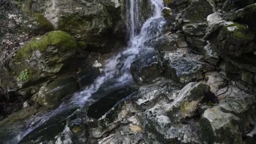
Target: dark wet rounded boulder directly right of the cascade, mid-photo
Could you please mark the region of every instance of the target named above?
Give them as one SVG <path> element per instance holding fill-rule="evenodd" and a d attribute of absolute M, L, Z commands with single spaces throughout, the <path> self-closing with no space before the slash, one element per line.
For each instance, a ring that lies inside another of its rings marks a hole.
<path fill-rule="evenodd" d="M 163 64 L 155 53 L 148 53 L 134 61 L 130 71 L 136 83 L 152 83 L 153 80 L 163 74 Z"/>

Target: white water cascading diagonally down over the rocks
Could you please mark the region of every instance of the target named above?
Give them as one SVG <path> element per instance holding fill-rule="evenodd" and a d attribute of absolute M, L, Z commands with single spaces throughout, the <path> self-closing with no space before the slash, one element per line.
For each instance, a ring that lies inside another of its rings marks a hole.
<path fill-rule="evenodd" d="M 128 47 L 106 61 L 104 74 L 96 78 L 92 85 L 79 93 L 75 93 L 69 101 L 64 102 L 52 112 L 42 117 L 37 117 L 36 123 L 33 122 L 30 124 L 25 128 L 25 131 L 22 131 L 18 136 L 9 141 L 8 144 L 19 143 L 24 136 L 35 128 L 48 121 L 51 117 L 67 111 L 67 109 L 83 107 L 86 101 L 88 101 L 88 98 L 93 93 L 96 93 L 104 83 L 112 81 L 115 85 L 122 85 L 131 82 L 131 63 L 137 55 L 154 50 L 154 48 L 150 47 L 150 41 L 160 35 L 163 24 L 165 23 L 165 20 L 161 17 L 163 0 L 150 0 L 149 6 L 152 9 L 152 16 L 146 21 L 139 21 L 141 17 L 141 0 L 127 0 L 127 27 L 130 35 Z M 140 26 L 141 23 L 143 23 L 142 26 Z"/>

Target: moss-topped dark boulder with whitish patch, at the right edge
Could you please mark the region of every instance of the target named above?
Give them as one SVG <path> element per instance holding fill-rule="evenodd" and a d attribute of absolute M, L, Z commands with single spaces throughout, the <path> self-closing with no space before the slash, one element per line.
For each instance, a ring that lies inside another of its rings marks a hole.
<path fill-rule="evenodd" d="M 232 57 L 254 51 L 255 35 L 243 24 L 229 24 L 221 27 L 217 36 L 218 52 Z"/>

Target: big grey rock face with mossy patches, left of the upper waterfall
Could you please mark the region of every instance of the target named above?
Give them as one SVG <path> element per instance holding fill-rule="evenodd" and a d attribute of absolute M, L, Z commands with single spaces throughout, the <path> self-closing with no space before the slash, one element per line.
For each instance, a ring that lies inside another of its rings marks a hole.
<path fill-rule="evenodd" d="M 50 0 L 44 13 L 55 29 L 86 42 L 91 51 L 109 52 L 125 40 L 123 6 L 119 0 Z"/>

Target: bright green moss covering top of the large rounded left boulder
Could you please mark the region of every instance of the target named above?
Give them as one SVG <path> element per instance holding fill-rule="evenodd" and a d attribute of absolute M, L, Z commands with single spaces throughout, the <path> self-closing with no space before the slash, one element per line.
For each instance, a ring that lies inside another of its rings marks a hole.
<path fill-rule="evenodd" d="M 62 31 L 48 32 L 42 37 L 34 37 L 32 40 L 21 48 L 14 57 L 15 61 L 23 61 L 28 59 L 32 52 L 38 50 L 45 52 L 48 46 L 57 46 L 59 51 L 67 51 L 71 48 L 77 48 L 74 38 L 68 33 Z"/>

